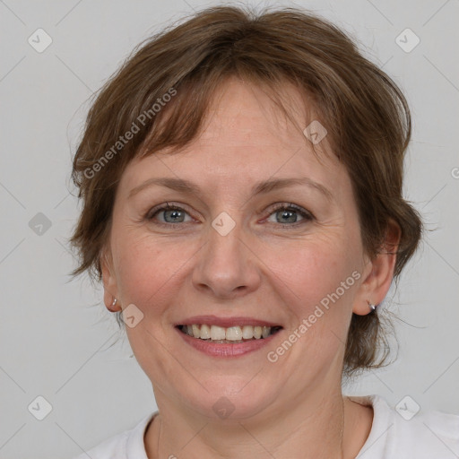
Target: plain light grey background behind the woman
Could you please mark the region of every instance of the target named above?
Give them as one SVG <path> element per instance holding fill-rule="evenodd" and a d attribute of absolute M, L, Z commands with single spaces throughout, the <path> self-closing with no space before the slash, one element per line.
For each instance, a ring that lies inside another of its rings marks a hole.
<path fill-rule="evenodd" d="M 78 214 L 71 158 L 92 92 L 134 45 L 211 4 L 0 0 L 0 458 L 73 457 L 156 409 L 101 290 L 67 275 Z M 398 359 L 346 392 L 381 394 L 393 405 L 410 395 L 422 411 L 459 412 L 459 3 L 289 5 L 351 32 L 405 91 L 414 119 L 405 195 L 432 230 L 386 306 L 400 318 Z M 42 53 L 28 42 L 39 28 L 53 40 Z M 409 53 L 395 41 L 406 28 L 420 38 Z M 44 410 L 39 395 L 52 406 L 44 420 L 30 413 Z"/>

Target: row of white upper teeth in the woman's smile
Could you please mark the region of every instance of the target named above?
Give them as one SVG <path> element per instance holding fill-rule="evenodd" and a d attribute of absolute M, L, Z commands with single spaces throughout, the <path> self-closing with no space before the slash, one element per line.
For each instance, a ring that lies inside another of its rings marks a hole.
<path fill-rule="evenodd" d="M 228 340 L 228 341 L 240 341 L 242 339 L 251 340 L 255 338 L 259 340 L 262 336 L 264 338 L 271 334 L 270 326 L 230 326 L 224 328 L 218 325 L 185 325 L 184 332 L 195 338 L 201 338 L 202 340 Z"/>

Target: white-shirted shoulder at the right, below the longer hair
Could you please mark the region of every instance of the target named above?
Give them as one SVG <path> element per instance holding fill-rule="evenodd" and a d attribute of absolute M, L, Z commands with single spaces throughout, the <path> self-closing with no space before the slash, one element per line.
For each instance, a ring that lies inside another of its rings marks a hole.
<path fill-rule="evenodd" d="M 357 459 L 453 459 L 459 457 L 459 415 L 417 412 L 409 397 L 396 409 L 379 395 L 350 397 L 373 407 L 370 434 Z"/>

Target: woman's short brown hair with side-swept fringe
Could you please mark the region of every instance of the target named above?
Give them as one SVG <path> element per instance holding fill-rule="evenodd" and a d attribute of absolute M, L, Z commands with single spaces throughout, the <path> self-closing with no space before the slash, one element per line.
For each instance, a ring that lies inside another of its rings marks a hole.
<path fill-rule="evenodd" d="M 391 221 L 401 229 L 396 279 L 422 232 L 418 212 L 402 196 L 411 136 L 402 92 L 342 30 L 315 15 L 228 6 L 196 13 L 146 40 L 93 102 L 74 157 L 83 206 L 71 238 L 80 255 L 73 274 L 88 270 L 101 280 L 100 255 L 126 164 L 193 140 L 212 94 L 229 76 L 267 86 L 273 95 L 290 82 L 314 101 L 327 141 L 351 177 L 366 253 L 379 253 Z M 353 315 L 346 374 L 377 367 L 386 355 L 378 315 Z"/>

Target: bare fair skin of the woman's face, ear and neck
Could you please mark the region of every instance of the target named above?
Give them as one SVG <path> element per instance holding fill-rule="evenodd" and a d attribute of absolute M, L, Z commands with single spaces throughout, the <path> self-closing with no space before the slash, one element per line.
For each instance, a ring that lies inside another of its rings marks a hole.
<path fill-rule="evenodd" d="M 284 91 L 300 100 L 295 88 Z M 305 123 L 305 108 L 292 104 L 304 128 L 314 118 Z M 328 148 L 326 141 L 316 145 L 319 152 Z M 352 312 L 368 314 L 368 301 L 385 298 L 395 255 L 370 260 L 365 254 L 346 169 L 333 154 L 317 160 L 312 144 L 264 92 L 236 78 L 213 100 L 200 135 L 168 153 L 126 167 L 102 262 L 108 309 L 134 304 L 143 312 L 126 331 L 160 411 L 145 434 L 148 457 L 355 457 L 373 411 L 342 398 L 344 342 Z M 161 177 L 193 181 L 201 191 L 151 186 L 129 197 L 146 180 Z M 250 193 L 260 180 L 303 177 L 325 186 L 331 198 L 304 185 Z M 172 221 L 164 211 L 145 218 L 166 203 L 184 209 L 182 222 L 161 227 Z M 282 220 L 282 211 L 273 208 L 282 203 L 314 217 L 294 212 L 293 220 Z M 223 211 L 236 223 L 226 236 L 212 228 Z M 296 226 L 287 227 L 295 219 Z M 393 228 L 386 243 L 396 246 L 399 236 Z M 354 271 L 359 280 L 289 351 L 268 361 L 267 352 Z M 195 315 L 251 316 L 283 330 L 260 351 L 219 359 L 195 351 L 174 328 Z M 226 419 L 212 410 L 222 396 L 234 406 Z"/>

